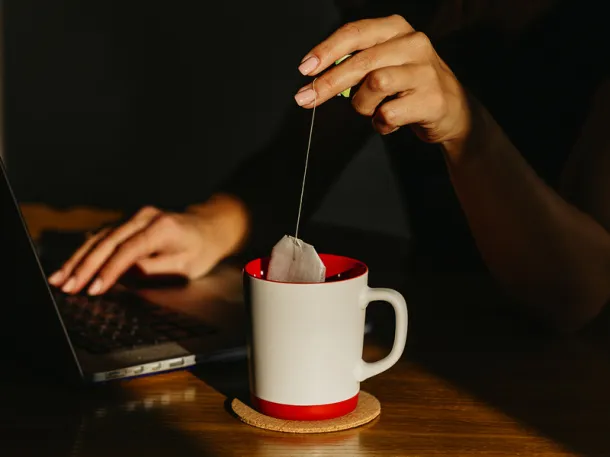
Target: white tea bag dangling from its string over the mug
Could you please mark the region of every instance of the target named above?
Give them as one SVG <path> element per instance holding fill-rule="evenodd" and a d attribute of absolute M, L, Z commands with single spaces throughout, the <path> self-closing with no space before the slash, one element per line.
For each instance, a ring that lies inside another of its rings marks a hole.
<path fill-rule="evenodd" d="M 311 244 L 293 236 L 284 237 L 273 247 L 267 279 L 281 282 L 324 282 L 326 267 Z"/>

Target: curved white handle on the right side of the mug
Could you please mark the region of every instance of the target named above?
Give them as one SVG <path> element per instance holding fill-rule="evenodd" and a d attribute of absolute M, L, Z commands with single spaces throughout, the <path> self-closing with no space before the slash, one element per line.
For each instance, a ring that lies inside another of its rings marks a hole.
<path fill-rule="evenodd" d="M 407 302 L 402 294 L 392 289 L 373 289 L 367 287 L 363 294 L 361 307 L 366 309 L 373 301 L 385 301 L 392 305 L 396 315 L 396 329 L 394 333 L 394 344 L 392 350 L 383 359 L 377 362 L 368 363 L 360 360 L 356 367 L 356 380 L 362 382 L 391 368 L 402 356 L 407 343 L 407 329 L 409 327 L 409 314 Z"/>

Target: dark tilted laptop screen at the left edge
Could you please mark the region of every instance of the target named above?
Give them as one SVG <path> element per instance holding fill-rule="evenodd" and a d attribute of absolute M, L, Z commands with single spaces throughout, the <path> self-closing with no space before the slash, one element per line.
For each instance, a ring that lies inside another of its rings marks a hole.
<path fill-rule="evenodd" d="M 82 373 L 0 159 L 0 373 L 61 382 Z"/>

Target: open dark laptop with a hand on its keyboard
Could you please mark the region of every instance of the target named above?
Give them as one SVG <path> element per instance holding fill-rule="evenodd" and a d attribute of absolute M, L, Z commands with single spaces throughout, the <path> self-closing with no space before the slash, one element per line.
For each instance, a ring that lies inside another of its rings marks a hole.
<path fill-rule="evenodd" d="M 239 303 L 202 303 L 196 318 L 127 289 L 67 295 L 47 282 L 0 159 L 2 371 L 60 383 L 105 383 L 246 356 Z M 208 281 L 208 284 L 214 282 Z M 245 313 L 244 313 L 245 314 Z"/>

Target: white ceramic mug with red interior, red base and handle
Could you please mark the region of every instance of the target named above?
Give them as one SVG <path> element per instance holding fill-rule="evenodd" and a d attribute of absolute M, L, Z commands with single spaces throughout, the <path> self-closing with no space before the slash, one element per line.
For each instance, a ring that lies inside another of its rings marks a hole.
<path fill-rule="evenodd" d="M 250 319 L 248 359 L 253 406 L 288 420 L 340 417 L 358 405 L 360 383 L 392 367 L 401 357 L 408 327 L 407 304 L 391 289 L 368 287 L 367 266 L 321 254 L 324 283 L 265 279 L 268 259 L 244 269 Z M 362 360 L 366 308 L 386 301 L 396 313 L 394 345 L 374 363 Z"/>

